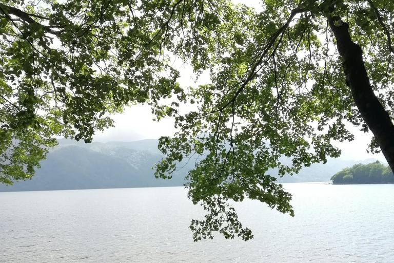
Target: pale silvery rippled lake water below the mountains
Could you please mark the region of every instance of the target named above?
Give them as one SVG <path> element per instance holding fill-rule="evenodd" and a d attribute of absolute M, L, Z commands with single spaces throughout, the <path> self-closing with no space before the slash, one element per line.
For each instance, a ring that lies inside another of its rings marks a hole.
<path fill-rule="evenodd" d="M 254 239 L 192 241 L 183 187 L 0 193 L 0 262 L 394 262 L 394 184 L 284 184 L 234 204 Z"/>

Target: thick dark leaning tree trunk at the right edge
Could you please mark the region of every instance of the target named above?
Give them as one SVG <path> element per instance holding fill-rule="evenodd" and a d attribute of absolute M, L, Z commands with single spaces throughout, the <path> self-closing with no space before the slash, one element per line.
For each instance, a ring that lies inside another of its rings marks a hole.
<path fill-rule="evenodd" d="M 339 22 L 338 26 L 334 23 L 336 21 Z M 394 125 L 373 93 L 364 66 L 363 52 L 360 46 L 351 40 L 348 24 L 341 21 L 340 17 L 328 17 L 328 22 L 337 40 L 339 54 L 344 60 L 343 70 L 354 102 L 375 136 L 388 165 L 394 171 Z"/>

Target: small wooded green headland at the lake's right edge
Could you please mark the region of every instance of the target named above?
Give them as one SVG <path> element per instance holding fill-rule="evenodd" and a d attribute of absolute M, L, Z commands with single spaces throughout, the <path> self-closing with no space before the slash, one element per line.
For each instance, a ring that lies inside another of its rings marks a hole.
<path fill-rule="evenodd" d="M 394 175 L 390 167 L 376 161 L 344 168 L 330 180 L 333 184 L 394 183 Z"/>

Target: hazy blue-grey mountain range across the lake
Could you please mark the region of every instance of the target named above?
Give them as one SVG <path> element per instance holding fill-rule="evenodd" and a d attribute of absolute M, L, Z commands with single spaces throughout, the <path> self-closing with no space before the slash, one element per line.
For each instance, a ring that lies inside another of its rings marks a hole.
<path fill-rule="evenodd" d="M 0 192 L 182 186 L 187 172 L 194 167 L 193 162 L 184 162 L 172 179 L 156 179 L 152 167 L 164 156 L 157 149 L 158 141 L 153 139 L 90 144 L 68 139 L 58 142 L 31 180 L 0 184 Z M 329 159 L 326 164 L 304 167 L 298 175 L 278 178 L 278 182 L 329 181 L 345 167 L 373 161 L 376 160 Z M 271 170 L 270 174 L 275 176 L 277 172 Z"/>

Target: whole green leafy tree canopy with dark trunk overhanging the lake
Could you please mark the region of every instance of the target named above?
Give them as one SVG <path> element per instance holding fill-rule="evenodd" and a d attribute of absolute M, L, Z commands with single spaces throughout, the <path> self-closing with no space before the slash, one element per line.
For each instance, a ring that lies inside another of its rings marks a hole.
<path fill-rule="evenodd" d="M 31 176 L 53 135 L 89 142 L 112 125 L 107 112 L 135 102 L 179 128 L 160 140 L 157 177 L 201 157 L 186 185 L 207 210 L 192 221 L 195 240 L 252 237 L 229 200 L 293 215 L 269 168 L 338 157 L 331 142 L 353 139 L 348 122 L 371 130 L 370 150 L 394 168 L 391 0 L 265 0 L 262 12 L 227 0 L 0 3 L 4 182 Z M 180 87 L 174 58 L 211 84 Z M 181 115 L 183 103 L 195 110 Z"/>

